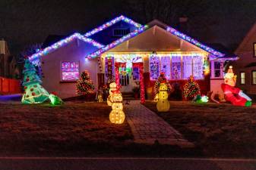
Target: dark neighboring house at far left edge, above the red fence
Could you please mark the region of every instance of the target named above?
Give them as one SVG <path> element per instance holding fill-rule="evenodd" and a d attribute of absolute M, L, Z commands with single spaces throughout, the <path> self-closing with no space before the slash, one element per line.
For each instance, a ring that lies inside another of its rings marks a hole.
<path fill-rule="evenodd" d="M 0 76 L 19 79 L 20 75 L 17 60 L 10 54 L 7 42 L 5 42 L 5 40 L 0 40 Z"/>

